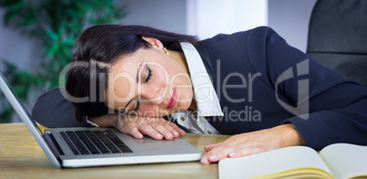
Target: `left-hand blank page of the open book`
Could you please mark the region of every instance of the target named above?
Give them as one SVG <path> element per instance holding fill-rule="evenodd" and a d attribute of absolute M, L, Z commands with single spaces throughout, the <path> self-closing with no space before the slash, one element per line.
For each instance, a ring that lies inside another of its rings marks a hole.
<path fill-rule="evenodd" d="M 300 168 L 317 168 L 330 174 L 319 154 L 305 146 L 281 148 L 219 162 L 219 178 L 253 178 Z"/>

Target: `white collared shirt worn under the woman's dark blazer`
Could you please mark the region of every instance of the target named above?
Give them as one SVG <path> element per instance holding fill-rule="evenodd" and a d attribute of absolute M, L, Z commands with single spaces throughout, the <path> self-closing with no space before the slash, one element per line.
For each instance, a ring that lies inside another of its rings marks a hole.
<path fill-rule="evenodd" d="M 197 111 L 176 112 L 171 116 L 189 132 L 219 134 L 205 119 L 205 116 L 223 116 L 223 112 L 203 60 L 192 44 L 182 42 L 181 47 L 190 71 Z"/>

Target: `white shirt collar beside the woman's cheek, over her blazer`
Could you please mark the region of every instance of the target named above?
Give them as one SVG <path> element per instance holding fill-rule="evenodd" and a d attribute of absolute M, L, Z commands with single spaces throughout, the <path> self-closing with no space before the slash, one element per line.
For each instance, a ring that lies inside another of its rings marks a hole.
<path fill-rule="evenodd" d="M 197 114 L 200 116 L 223 116 L 212 81 L 196 48 L 188 42 L 181 42 L 181 47 L 184 51 L 194 87 Z"/>

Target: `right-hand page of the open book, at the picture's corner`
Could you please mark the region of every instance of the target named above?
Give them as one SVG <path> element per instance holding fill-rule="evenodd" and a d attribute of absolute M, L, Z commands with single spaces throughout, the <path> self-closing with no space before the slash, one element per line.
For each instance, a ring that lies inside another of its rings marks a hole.
<path fill-rule="evenodd" d="M 335 178 L 367 176 L 367 147 L 347 143 L 331 144 L 320 151 Z"/>

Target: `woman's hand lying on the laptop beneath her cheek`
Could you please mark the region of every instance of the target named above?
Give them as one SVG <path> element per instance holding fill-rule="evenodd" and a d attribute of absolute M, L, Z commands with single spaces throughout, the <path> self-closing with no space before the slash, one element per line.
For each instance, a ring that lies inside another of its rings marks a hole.
<path fill-rule="evenodd" d="M 101 127 L 115 127 L 123 133 L 129 133 L 137 139 L 142 139 L 143 135 L 151 136 L 153 139 L 172 140 L 178 136 L 183 136 L 185 132 L 175 123 L 165 121 L 163 118 L 139 117 L 123 115 L 119 118 L 117 114 L 107 114 L 98 118 L 89 119 Z"/>

